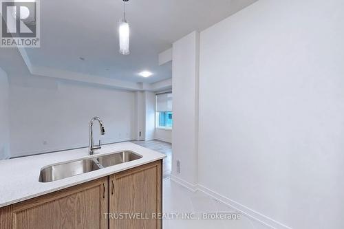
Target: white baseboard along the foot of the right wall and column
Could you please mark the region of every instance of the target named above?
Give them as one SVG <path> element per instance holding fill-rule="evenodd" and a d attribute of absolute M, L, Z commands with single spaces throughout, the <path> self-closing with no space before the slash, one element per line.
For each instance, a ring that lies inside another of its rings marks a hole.
<path fill-rule="evenodd" d="M 229 199 L 228 197 L 225 197 L 224 195 L 221 195 L 219 193 L 216 193 L 215 191 L 211 190 L 210 188 L 206 188 L 205 186 L 202 186 L 200 184 L 193 185 L 189 182 L 184 181 L 183 179 L 180 179 L 179 177 L 175 177 L 174 175 L 171 175 L 171 180 L 173 182 L 176 182 L 185 188 L 188 188 L 189 190 L 195 192 L 195 191 L 201 191 L 202 193 L 208 195 L 209 197 L 216 199 L 217 201 L 221 202 L 222 204 L 226 204 L 230 208 L 233 208 L 237 210 L 238 212 L 241 212 L 242 215 L 245 215 L 246 217 L 253 219 L 264 226 L 268 226 L 270 228 L 275 229 L 292 229 L 283 223 L 279 223 L 278 221 L 271 219 L 270 217 L 267 217 L 266 215 L 263 215 L 255 210 L 252 210 L 243 204 L 239 204 L 237 201 L 234 201 L 233 199 Z"/>

